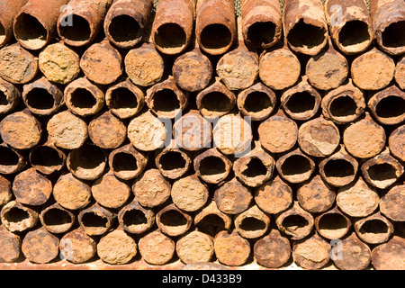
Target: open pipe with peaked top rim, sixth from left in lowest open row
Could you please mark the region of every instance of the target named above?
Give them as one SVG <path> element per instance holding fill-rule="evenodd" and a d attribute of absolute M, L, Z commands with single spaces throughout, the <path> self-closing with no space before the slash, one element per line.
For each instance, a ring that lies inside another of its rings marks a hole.
<path fill-rule="evenodd" d="M 209 201 L 201 211 L 194 216 L 194 226 L 199 231 L 214 237 L 222 230 L 229 230 L 232 224 L 232 216 L 220 211 L 217 203 Z"/>

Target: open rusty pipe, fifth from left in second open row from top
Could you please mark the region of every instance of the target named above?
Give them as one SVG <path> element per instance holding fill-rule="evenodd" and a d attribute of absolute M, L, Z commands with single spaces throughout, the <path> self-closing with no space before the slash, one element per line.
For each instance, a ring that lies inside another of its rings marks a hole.
<path fill-rule="evenodd" d="M 169 76 L 148 89 L 145 103 L 158 117 L 174 119 L 187 106 L 188 94 L 177 87 L 173 76 Z"/>

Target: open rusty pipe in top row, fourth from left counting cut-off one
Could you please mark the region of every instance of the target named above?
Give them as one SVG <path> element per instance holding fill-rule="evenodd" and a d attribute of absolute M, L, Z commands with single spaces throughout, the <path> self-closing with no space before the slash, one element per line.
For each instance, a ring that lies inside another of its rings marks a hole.
<path fill-rule="evenodd" d="M 152 0 L 114 0 L 105 15 L 105 36 L 115 46 L 131 49 L 145 37 Z"/>

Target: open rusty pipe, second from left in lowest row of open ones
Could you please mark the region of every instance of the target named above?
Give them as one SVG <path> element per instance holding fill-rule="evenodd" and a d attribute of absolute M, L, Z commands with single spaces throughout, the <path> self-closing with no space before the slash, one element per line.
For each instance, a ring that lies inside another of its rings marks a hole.
<path fill-rule="evenodd" d="M 75 224 L 76 216 L 58 203 L 40 211 L 40 223 L 50 233 L 66 233 Z"/>

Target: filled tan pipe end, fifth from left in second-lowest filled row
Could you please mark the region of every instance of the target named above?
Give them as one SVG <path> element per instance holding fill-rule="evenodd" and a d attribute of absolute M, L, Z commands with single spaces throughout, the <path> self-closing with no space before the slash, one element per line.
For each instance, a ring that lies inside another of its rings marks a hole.
<path fill-rule="evenodd" d="M 132 185 L 135 198 L 144 207 L 153 208 L 166 202 L 170 197 L 171 184 L 153 168 L 146 170 Z"/>

